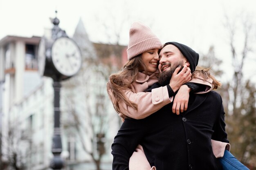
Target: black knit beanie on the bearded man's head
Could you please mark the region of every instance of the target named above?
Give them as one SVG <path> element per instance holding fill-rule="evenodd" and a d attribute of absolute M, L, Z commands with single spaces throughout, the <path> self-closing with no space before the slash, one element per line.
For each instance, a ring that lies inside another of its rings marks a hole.
<path fill-rule="evenodd" d="M 166 42 L 164 45 L 167 45 L 167 44 L 172 44 L 180 50 L 180 52 L 188 60 L 190 64 L 191 73 L 193 73 L 195 71 L 195 67 L 198 65 L 199 54 L 184 44 L 180 44 L 177 42 Z"/>

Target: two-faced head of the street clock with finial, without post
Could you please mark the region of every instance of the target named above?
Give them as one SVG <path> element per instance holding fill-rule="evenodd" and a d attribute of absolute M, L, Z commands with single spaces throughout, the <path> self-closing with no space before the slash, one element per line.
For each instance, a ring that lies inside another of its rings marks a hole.
<path fill-rule="evenodd" d="M 38 46 L 38 71 L 41 76 L 61 81 L 78 73 L 82 57 L 76 42 L 58 27 L 58 18 L 52 23 L 52 38 L 42 37 Z"/>

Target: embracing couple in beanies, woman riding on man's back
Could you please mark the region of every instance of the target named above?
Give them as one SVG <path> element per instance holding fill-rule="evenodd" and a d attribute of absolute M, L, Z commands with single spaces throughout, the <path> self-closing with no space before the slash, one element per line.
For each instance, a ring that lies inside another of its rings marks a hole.
<path fill-rule="evenodd" d="M 198 53 L 177 42 L 162 47 L 139 22 L 130 28 L 127 53 L 107 84 L 124 121 L 112 144 L 114 170 L 247 169 L 225 150 L 222 99 L 211 91 L 220 82 L 195 71 Z"/>

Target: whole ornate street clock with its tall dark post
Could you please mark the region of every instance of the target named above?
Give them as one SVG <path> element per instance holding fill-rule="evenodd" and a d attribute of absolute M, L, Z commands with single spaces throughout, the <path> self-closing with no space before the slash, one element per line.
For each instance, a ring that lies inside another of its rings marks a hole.
<path fill-rule="evenodd" d="M 56 11 L 57 13 L 57 11 Z M 58 18 L 52 20 L 52 38 L 42 37 L 38 48 L 38 70 L 40 75 L 52 77 L 54 80 L 54 135 L 52 153 L 54 155 L 50 167 L 54 170 L 63 168 L 61 159 L 61 129 L 60 129 L 60 90 L 61 81 L 75 75 L 81 67 L 81 52 L 77 44 L 64 30 L 60 29 Z"/>

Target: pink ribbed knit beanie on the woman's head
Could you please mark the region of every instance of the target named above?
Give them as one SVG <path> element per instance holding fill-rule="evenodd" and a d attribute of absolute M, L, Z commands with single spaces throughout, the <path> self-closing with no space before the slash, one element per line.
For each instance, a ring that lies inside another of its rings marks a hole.
<path fill-rule="evenodd" d="M 151 29 L 134 22 L 130 28 L 130 40 L 127 49 L 128 60 L 151 49 L 161 48 L 160 40 L 152 33 Z"/>

